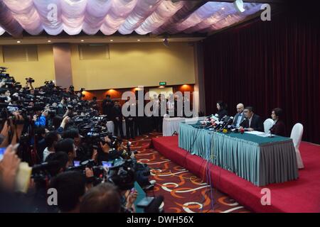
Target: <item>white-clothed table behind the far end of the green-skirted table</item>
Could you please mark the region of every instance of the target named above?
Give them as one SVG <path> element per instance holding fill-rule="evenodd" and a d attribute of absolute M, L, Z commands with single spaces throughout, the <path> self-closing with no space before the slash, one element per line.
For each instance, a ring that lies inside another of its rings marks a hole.
<path fill-rule="evenodd" d="M 162 135 L 171 136 L 174 132 L 178 133 L 179 123 L 186 122 L 188 124 L 197 123 L 198 120 L 204 120 L 206 117 L 195 117 L 195 118 L 164 118 L 162 123 Z"/>

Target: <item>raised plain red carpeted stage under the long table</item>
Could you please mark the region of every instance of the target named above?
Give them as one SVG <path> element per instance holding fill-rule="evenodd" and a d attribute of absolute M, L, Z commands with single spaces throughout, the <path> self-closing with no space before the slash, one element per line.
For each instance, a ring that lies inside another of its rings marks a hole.
<path fill-rule="evenodd" d="M 255 212 L 320 212 L 320 146 L 302 142 L 300 152 L 304 170 L 299 170 L 299 179 L 281 184 L 269 184 L 271 205 L 262 206 L 261 190 L 251 182 L 208 163 L 203 158 L 191 155 L 178 148 L 178 136 L 153 138 L 154 148 L 178 165 L 206 180 L 209 170 L 212 186 L 228 194 L 243 206 Z"/>

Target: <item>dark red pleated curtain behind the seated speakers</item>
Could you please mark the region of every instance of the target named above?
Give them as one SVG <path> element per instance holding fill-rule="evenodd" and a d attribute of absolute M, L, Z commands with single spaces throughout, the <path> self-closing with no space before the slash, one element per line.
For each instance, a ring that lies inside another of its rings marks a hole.
<path fill-rule="evenodd" d="M 319 28 L 314 19 L 284 13 L 204 40 L 206 114 L 216 112 L 219 99 L 229 114 L 239 102 L 263 118 L 280 107 L 288 136 L 299 122 L 303 139 L 320 143 Z"/>

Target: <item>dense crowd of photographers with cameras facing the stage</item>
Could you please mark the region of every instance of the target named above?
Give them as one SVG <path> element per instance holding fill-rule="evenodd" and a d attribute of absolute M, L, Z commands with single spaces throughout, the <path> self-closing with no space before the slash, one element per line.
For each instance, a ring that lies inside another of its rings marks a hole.
<path fill-rule="evenodd" d="M 149 167 L 107 131 L 95 100 L 53 82 L 22 86 L 4 67 L 0 79 L 1 212 L 135 211 L 134 183 L 154 184 Z"/>

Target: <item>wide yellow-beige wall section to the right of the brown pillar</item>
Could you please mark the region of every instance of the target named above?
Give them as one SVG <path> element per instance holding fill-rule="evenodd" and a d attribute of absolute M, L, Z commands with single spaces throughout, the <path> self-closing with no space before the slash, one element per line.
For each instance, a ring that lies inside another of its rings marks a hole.
<path fill-rule="evenodd" d="M 159 82 L 193 84 L 193 46 L 188 43 L 112 43 L 109 60 L 79 60 L 78 45 L 71 45 L 75 89 L 112 89 L 159 86 Z"/>

